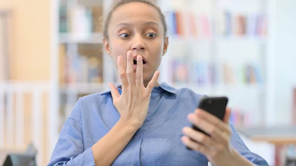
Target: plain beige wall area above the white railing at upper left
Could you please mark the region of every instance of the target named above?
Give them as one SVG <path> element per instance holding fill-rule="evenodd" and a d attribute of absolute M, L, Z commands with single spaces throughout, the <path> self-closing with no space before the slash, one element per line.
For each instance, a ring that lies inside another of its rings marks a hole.
<path fill-rule="evenodd" d="M 49 80 L 50 0 L 0 0 L 13 14 L 12 80 Z"/>

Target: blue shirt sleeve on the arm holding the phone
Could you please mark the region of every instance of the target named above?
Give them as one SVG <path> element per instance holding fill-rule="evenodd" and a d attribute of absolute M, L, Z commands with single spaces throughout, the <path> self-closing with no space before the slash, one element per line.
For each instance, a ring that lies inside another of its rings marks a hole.
<path fill-rule="evenodd" d="M 257 166 L 269 166 L 268 163 L 259 155 L 251 152 L 242 138 L 237 133 L 234 126 L 230 123 L 232 130 L 231 145 L 246 159 Z"/>

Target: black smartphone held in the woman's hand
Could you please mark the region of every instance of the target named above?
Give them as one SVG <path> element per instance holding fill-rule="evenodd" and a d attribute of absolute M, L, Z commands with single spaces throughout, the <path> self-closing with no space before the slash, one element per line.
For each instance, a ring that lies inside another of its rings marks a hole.
<path fill-rule="evenodd" d="M 227 103 L 228 103 L 227 97 L 208 97 L 200 100 L 198 108 L 203 109 L 211 113 L 212 115 L 215 115 L 220 120 L 223 120 Z M 205 133 L 204 131 L 200 130 L 194 125 L 192 125 L 192 129 L 201 133 Z M 205 133 L 205 134 L 209 135 L 208 133 Z"/>

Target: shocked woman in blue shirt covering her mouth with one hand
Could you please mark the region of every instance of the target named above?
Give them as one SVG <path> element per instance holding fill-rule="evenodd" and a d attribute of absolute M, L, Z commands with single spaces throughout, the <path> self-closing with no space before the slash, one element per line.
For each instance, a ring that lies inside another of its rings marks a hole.
<path fill-rule="evenodd" d="M 229 109 L 223 122 L 195 110 L 201 95 L 157 82 L 166 32 L 164 15 L 149 1 L 114 5 L 103 40 L 122 85 L 77 101 L 48 166 L 268 166 L 228 124 Z"/>

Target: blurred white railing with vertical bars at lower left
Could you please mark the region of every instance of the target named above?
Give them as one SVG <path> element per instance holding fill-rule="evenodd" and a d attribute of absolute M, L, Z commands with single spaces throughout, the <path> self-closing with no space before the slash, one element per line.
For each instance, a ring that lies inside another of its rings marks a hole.
<path fill-rule="evenodd" d="M 25 149 L 32 142 L 38 151 L 37 166 L 46 165 L 52 148 L 48 142 L 54 136 L 43 133 L 50 125 L 46 114 L 54 111 L 50 110 L 50 97 L 49 83 L 0 82 L 0 149 Z"/>

